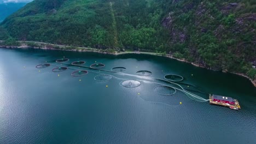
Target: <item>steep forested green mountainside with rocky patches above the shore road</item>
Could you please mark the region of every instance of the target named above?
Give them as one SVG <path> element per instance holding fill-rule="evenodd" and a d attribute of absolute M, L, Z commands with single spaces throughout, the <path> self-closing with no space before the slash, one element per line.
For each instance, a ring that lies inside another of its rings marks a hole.
<path fill-rule="evenodd" d="M 7 39 L 168 53 L 256 80 L 255 0 L 35 0 L 1 23 Z"/>

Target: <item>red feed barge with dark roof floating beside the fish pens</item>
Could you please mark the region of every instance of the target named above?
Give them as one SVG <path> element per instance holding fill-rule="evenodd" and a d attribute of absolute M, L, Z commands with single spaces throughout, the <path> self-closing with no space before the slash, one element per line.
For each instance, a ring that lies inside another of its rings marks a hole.
<path fill-rule="evenodd" d="M 241 109 L 237 99 L 233 99 L 231 97 L 224 97 L 222 95 L 215 95 L 215 94 L 210 94 L 209 98 L 210 98 L 210 104 L 227 106 L 233 110 Z"/>

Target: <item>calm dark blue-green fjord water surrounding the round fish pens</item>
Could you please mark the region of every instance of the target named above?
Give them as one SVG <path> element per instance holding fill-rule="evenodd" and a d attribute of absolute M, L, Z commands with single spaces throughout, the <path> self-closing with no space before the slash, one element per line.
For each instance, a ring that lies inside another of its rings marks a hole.
<path fill-rule="evenodd" d="M 63 56 L 68 63 L 86 61 L 86 66 L 102 62 L 107 70 L 125 67 L 124 73 L 132 75 L 98 82 L 98 74 L 90 71 L 72 77 L 72 69 L 35 68 L 45 61 L 60 65 L 53 60 Z M 184 82 L 208 93 L 238 99 L 241 110 L 184 94 L 159 95 L 153 90 L 157 84 L 134 76 L 138 70 L 160 79 L 182 75 Z M 123 79 L 139 79 L 141 86 L 123 87 Z M 165 57 L 0 49 L 0 143 L 256 143 L 256 89 L 244 77 Z"/>

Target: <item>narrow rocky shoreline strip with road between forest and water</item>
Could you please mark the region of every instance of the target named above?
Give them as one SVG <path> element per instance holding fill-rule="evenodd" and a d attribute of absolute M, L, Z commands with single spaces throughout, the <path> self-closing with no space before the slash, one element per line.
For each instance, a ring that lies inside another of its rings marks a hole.
<path fill-rule="evenodd" d="M 3 42 L 3 40 L 0 40 L 0 43 Z M 180 62 L 185 62 L 185 63 L 190 63 L 194 65 L 195 67 L 200 67 L 200 68 L 205 68 L 199 64 L 193 63 L 193 62 L 188 62 L 185 59 L 179 59 L 175 58 L 170 54 L 161 54 L 161 53 L 154 53 L 154 52 L 109 52 L 107 50 L 98 50 L 90 47 L 77 47 L 77 46 L 66 46 L 66 45 L 56 45 L 56 44 L 49 44 L 49 43 L 43 43 L 43 42 L 35 42 L 35 41 L 18 41 L 19 43 L 22 43 L 21 46 L 5 46 L 5 45 L 0 45 L 0 47 L 6 48 L 6 49 L 43 49 L 43 50 L 60 50 L 60 51 L 78 51 L 78 52 L 97 52 L 97 53 L 103 53 L 103 54 L 108 54 L 108 55 L 125 55 L 125 54 L 144 54 L 144 55 L 154 55 L 154 56 L 162 56 L 162 57 L 167 57 L 170 59 L 176 59 L 177 61 Z M 43 44 L 43 47 L 36 47 L 36 46 L 28 46 L 26 43 L 36 43 L 36 44 Z M 47 47 L 47 46 L 59 46 L 59 49 L 53 48 L 53 47 Z M 67 49 L 67 47 L 69 47 Z M 71 49 L 70 49 L 71 48 Z M 72 49 L 73 48 L 73 49 Z M 206 69 L 206 68 L 205 68 Z M 213 70 L 213 69 L 208 69 L 208 70 Z M 252 80 L 250 77 L 248 77 L 246 74 L 243 73 L 233 73 L 230 71 L 225 71 L 223 73 L 231 73 L 231 74 L 236 74 L 239 76 L 246 77 L 249 79 L 253 86 L 256 87 L 256 80 Z"/>

